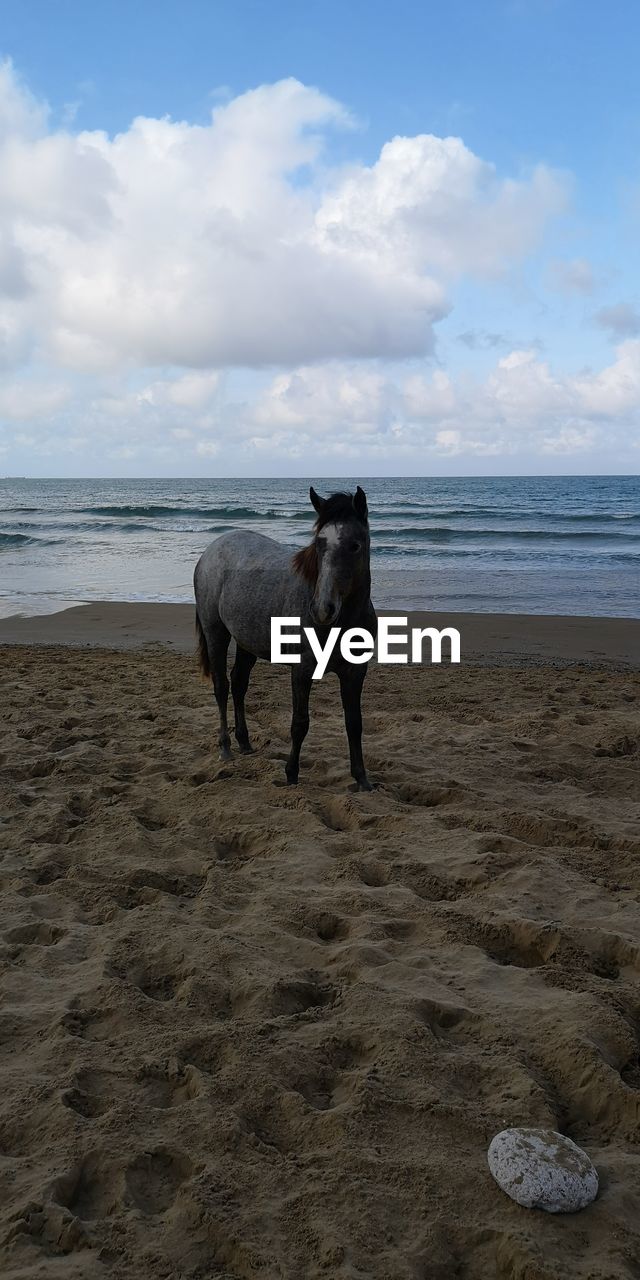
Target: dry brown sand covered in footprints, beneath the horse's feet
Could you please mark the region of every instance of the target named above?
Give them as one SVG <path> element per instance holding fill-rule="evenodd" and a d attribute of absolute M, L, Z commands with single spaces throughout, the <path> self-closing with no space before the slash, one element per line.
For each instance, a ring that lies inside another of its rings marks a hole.
<path fill-rule="evenodd" d="M 640 685 L 376 668 L 283 786 L 166 652 L 0 650 L 1 1274 L 622 1280 L 640 1256 Z M 512 1125 L 600 1192 L 509 1201 Z"/>

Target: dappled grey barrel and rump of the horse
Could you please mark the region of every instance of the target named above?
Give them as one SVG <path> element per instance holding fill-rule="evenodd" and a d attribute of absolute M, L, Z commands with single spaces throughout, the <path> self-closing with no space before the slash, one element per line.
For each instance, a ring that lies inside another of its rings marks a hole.
<path fill-rule="evenodd" d="M 300 613 L 305 593 L 291 558 L 291 548 L 251 530 L 232 530 L 210 543 L 193 575 L 205 631 L 220 621 L 243 649 L 268 658 L 271 616 L 296 605 Z"/>

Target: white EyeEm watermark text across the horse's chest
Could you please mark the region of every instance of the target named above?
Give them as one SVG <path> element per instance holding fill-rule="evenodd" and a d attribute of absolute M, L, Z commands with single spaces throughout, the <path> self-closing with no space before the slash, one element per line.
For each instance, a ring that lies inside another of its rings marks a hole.
<path fill-rule="evenodd" d="M 433 663 L 443 660 L 443 640 L 449 641 L 449 662 L 460 662 L 460 631 L 456 627 L 408 627 L 407 617 L 379 618 L 378 639 L 365 627 L 332 627 L 323 645 L 314 627 L 301 627 L 300 618 L 271 618 L 271 662 L 297 663 L 301 660 L 302 635 L 306 636 L 316 668 L 314 680 L 321 680 L 329 659 L 339 641 L 346 662 L 369 662 L 375 657 L 381 663 Z M 430 649 L 425 658 L 425 641 Z"/>

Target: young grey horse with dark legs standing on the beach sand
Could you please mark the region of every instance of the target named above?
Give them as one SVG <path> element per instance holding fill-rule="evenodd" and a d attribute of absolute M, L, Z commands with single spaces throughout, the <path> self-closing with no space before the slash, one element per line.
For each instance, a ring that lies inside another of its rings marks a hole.
<path fill-rule="evenodd" d="M 333 493 L 328 498 L 321 498 L 311 486 L 308 495 L 316 512 L 314 536 L 308 547 L 294 556 L 273 538 L 238 529 L 210 543 L 196 564 L 197 658 L 202 675 L 214 685 L 223 760 L 232 758 L 227 722 L 227 654 L 232 637 L 236 641 L 230 680 L 236 740 L 238 750 L 248 753 L 252 746 L 244 698 L 256 660 L 270 659 L 271 617 L 300 617 L 301 628 L 312 627 L 323 646 L 332 626 L 340 628 L 340 637 L 349 627 L 365 627 L 372 636 L 378 634 L 371 604 L 366 494 L 358 485 L 355 494 Z M 284 769 L 291 786 L 298 781 L 300 753 L 308 732 L 308 696 L 316 663 L 303 631 L 300 659 L 291 668 L 291 751 Z M 366 662 L 347 662 L 339 641 L 328 664 L 340 684 L 351 774 L 357 791 L 372 790 L 362 758 L 361 695 L 367 666 Z"/>

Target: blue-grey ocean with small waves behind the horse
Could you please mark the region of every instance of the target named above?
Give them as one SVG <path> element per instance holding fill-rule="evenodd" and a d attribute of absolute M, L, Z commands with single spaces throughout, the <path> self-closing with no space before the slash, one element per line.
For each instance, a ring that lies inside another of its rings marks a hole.
<path fill-rule="evenodd" d="M 320 493 L 366 489 L 387 609 L 640 617 L 640 477 L 0 480 L 0 616 L 192 600 L 229 529 L 292 549 Z"/>

